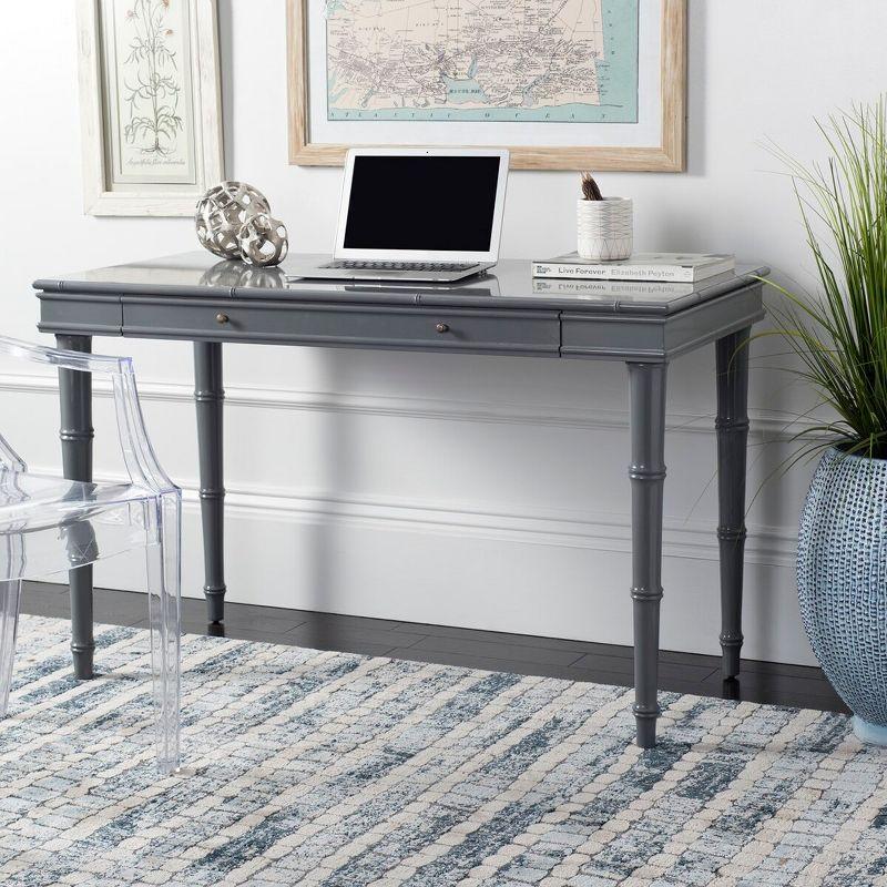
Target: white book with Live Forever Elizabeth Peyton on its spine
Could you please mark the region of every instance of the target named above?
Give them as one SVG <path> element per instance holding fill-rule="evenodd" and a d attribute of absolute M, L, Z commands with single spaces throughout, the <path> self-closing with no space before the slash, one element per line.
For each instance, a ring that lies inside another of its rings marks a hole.
<path fill-rule="evenodd" d="M 568 253 L 534 261 L 532 275 L 692 284 L 732 271 L 735 265 L 733 256 L 716 253 L 634 253 L 615 262 L 599 262 Z"/>

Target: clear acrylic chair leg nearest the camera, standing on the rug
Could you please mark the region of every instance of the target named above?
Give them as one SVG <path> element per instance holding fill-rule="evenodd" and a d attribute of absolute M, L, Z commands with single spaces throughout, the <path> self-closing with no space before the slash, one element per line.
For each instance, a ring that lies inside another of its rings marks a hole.
<path fill-rule="evenodd" d="M 157 768 L 173 773 L 180 756 L 180 591 L 182 502 L 177 493 L 157 507 L 159 544 L 147 548 L 151 666 L 156 710 Z"/>

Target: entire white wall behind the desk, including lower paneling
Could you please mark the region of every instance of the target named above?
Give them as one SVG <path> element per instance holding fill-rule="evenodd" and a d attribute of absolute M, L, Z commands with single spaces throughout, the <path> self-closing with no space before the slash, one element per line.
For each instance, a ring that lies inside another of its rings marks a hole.
<path fill-rule="evenodd" d="M 4 109 L 2 333 L 37 339 L 37 276 L 195 246 L 187 220 L 81 211 L 73 3 L 10 4 Z M 281 0 L 220 0 L 227 173 L 255 183 L 295 249 L 330 246 L 339 171 L 287 165 Z M 635 201 L 639 248 L 735 252 L 808 281 L 788 183 L 761 147 L 818 152 L 812 124 L 887 82 L 881 0 L 691 1 L 685 174 L 609 174 Z M 503 254 L 574 238 L 577 177 L 513 173 Z M 136 358 L 161 459 L 185 488 L 185 593 L 202 564 L 190 349 L 98 339 Z M 761 349 L 757 349 L 761 353 Z M 808 392 L 753 374 L 751 490 L 785 446 L 763 447 Z M 2 427 L 34 468 L 57 459 L 54 383 L 0 367 Z M 322 349 L 226 348 L 228 594 L 314 608 L 630 643 L 626 384 L 619 365 Z M 670 378 L 663 646 L 717 651 L 711 349 Z M 96 472 L 116 469 L 96 399 Z M 766 483 L 750 513 L 746 653 L 810 662 L 793 584 L 809 468 Z M 139 587 L 140 564 L 106 584 Z"/>

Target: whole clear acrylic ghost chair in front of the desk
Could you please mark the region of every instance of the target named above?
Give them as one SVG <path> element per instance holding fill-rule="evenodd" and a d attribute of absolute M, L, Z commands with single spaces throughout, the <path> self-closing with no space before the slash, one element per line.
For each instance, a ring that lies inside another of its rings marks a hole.
<path fill-rule="evenodd" d="M 129 357 L 45 348 L 0 337 L 0 356 L 110 377 L 129 483 L 35 475 L 0 437 L 0 717 L 7 713 L 22 579 L 145 549 L 157 766 L 180 765 L 181 490 L 145 431 Z"/>

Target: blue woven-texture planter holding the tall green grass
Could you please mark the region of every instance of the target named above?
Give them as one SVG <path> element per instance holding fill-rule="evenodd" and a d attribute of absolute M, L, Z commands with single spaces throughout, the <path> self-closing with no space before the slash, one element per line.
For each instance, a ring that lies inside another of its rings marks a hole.
<path fill-rule="evenodd" d="M 887 460 L 825 452 L 801 517 L 797 589 L 826 677 L 887 727 Z"/>

